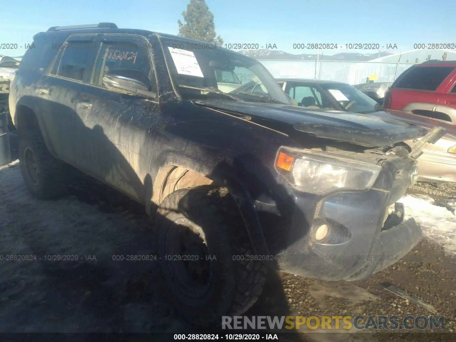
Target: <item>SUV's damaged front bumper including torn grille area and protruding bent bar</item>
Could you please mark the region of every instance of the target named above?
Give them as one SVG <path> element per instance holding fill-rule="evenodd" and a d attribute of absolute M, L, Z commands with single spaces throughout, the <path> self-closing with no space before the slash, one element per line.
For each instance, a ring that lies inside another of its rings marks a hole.
<path fill-rule="evenodd" d="M 434 128 L 410 152 L 373 154 L 371 158 L 380 160 L 382 168 L 369 189 L 316 195 L 296 191 L 279 180 L 289 190 L 293 209 L 281 229 L 282 238 L 269 237 L 278 268 L 322 280 L 352 281 L 365 279 L 407 254 L 422 232 L 413 218 L 404 222 L 404 206 L 396 202 L 418 177 L 416 158 L 444 133 Z M 258 204 L 257 208 L 267 208 Z M 279 215 L 285 218 L 281 207 Z"/>

